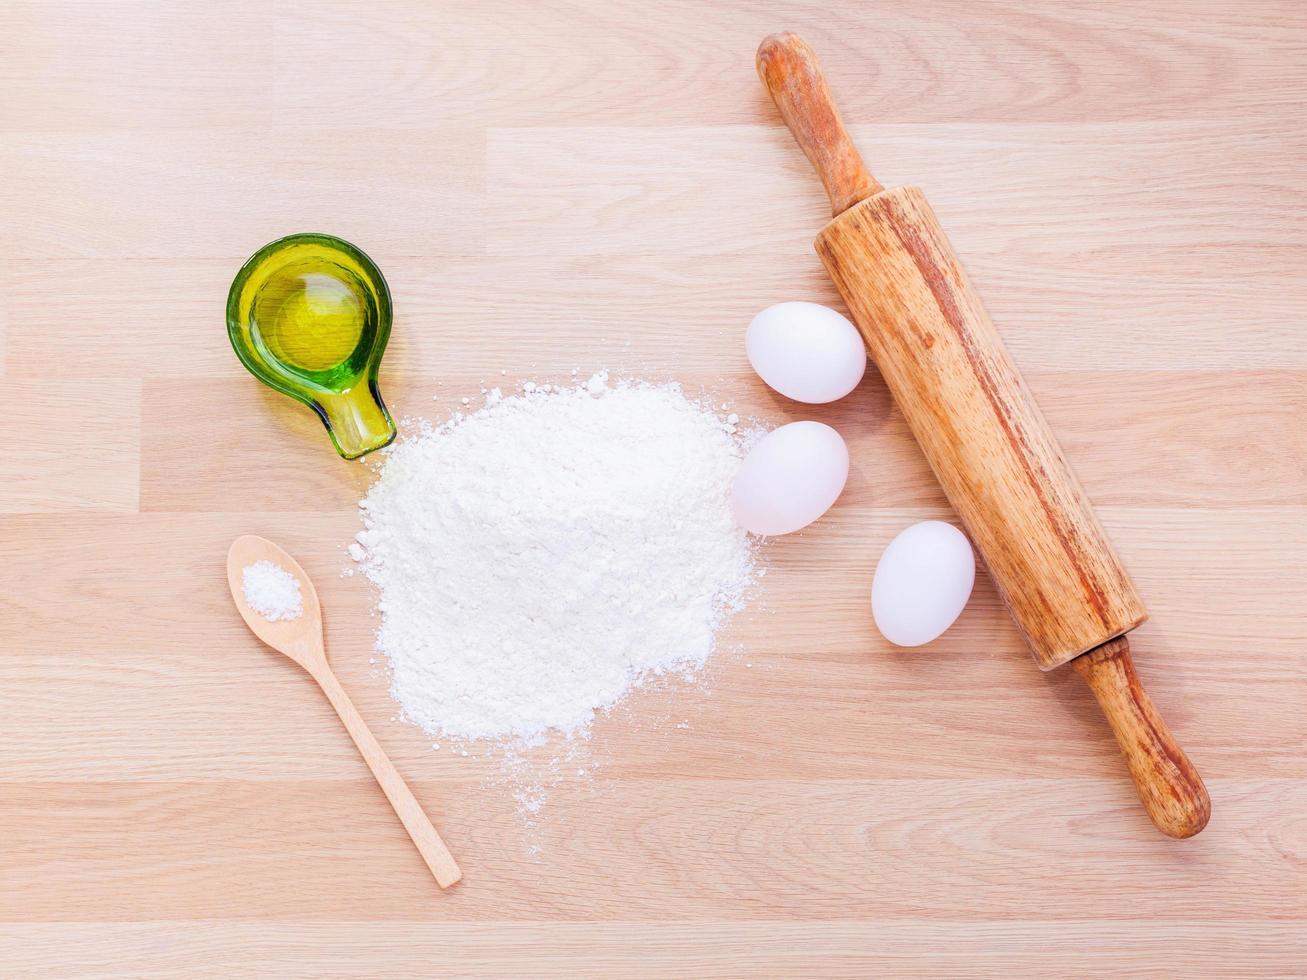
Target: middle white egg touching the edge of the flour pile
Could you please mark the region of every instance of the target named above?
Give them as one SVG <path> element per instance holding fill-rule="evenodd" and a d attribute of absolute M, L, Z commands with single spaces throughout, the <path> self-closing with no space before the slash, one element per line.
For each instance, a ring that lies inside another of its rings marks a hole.
<path fill-rule="evenodd" d="M 830 510 L 848 480 L 848 447 L 821 422 L 780 426 L 749 451 L 731 490 L 736 521 L 754 534 L 788 534 Z"/>

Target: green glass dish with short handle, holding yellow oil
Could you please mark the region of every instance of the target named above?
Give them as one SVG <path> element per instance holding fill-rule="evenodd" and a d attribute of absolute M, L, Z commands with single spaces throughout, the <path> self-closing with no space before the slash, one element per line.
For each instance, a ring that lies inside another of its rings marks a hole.
<path fill-rule="evenodd" d="M 269 242 L 227 293 L 227 337 L 240 363 L 316 412 L 346 460 L 395 440 L 376 387 L 389 336 L 391 290 L 382 270 L 332 235 Z"/>

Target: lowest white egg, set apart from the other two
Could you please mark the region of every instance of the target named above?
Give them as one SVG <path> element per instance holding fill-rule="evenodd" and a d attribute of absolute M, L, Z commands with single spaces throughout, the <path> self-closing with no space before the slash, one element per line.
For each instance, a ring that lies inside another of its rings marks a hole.
<path fill-rule="evenodd" d="M 920 647 L 962 614 L 976 580 L 967 536 L 942 520 L 923 520 L 890 541 L 872 579 L 872 615 L 890 643 Z"/>

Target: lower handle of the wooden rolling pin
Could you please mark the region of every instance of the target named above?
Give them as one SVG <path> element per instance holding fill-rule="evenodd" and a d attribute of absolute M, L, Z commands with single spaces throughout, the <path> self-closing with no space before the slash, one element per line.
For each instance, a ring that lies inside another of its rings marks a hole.
<path fill-rule="evenodd" d="M 1157 828 L 1171 838 L 1192 838 L 1208 826 L 1208 788 L 1140 683 L 1129 642 L 1117 636 L 1072 664 L 1107 716 Z"/>

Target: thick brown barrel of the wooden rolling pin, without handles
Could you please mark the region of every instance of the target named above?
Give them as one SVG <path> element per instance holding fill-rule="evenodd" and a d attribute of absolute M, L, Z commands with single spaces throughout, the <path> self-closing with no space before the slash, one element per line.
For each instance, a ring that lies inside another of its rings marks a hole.
<path fill-rule="evenodd" d="M 855 204 L 817 253 L 1044 670 L 1145 619 L 1052 430 L 915 187 Z"/>

